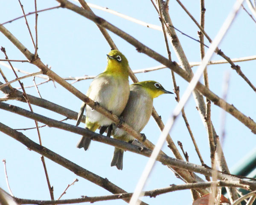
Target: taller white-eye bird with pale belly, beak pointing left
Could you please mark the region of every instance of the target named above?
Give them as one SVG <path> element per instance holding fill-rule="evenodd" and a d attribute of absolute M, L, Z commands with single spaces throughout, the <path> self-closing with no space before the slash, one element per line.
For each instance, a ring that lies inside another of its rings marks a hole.
<path fill-rule="evenodd" d="M 127 104 L 130 87 L 128 81 L 128 61 L 118 50 L 108 53 L 108 65 L 104 72 L 97 75 L 90 84 L 86 95 L 100 106 L 119 116 Z M 93 132 L 99 126 L 108 126 L 113 122 L 93 110 L 85 103 L 81 105 L 76 125 L 79 125 L 86 107 L 85 127 Z M 89 148 L 91 139 L 82 136 L 76 147 Z"/>

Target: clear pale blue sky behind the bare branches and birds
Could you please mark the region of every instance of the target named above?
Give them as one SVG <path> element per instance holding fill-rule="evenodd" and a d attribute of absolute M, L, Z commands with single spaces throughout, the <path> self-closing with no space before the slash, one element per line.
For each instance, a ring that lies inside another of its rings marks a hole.
<path fill-rule="evenodd" d="M 34 1 L 23 0 L 25 13 L 34 11 Z M 73 2 L 74 3 L 74 2 Z M 128 16 L 143 20 L 148 23 L 160 25 L 157 12 L 151 5 L 150 1 L 146 0 L 131 0 L 131 1 L 101 1 L 95 0 L 99 6 L 108 7 Z M 183 0 L 184 5 L 199 21 L 200 18 L 200 3 L 199 1 Z M 206 20 L 205 30 L 213 39 L 221 27 L 223 21 L 230 12 L 234 1 L 206 1 Z M 57 6 L 58 3 L 54 0 L 38 1 L 38 10 Z M 22 15 L 19 3 L 17 1 L 0 1 L 0 23 L 11 20 Z M 186 13 L 180 8 L 175 1 L 170 1 L 169 4 L 170 16 L 175 27 L 180 29 L 187 35 L 193 38 L 197 37 L 198 28 L 189 19 Z M 93 9 L 100 17 L 105 18 L 113 25 L 119 27 L 123 31 L 137 38 L 146 46 L 154 49 L 160 54 L 166 55 L 166 47 L 163 40 L 163 34 L 160 31 L 148 29 L 137 25 L 128 20 L 116 17 L 103 11 Z M 35 16 L 27 17 L 30 28 L 35 36 Z M 18 38 L 31 52 L 33 52 L 32 41 L 29 37 L 28 30 L 24 19 L 16 20 L 5 25 L 13 35 Z M 253 20 L 241 10 L 236 17 L 235 22 L 227 33 L 226 37 L 219 46 L 221 50 L 230 58 L 239 58 L 249 55 L 255 55 L 256 41 L 256 24 Z M 189 61 L 200 61 L 199 43 L 191 40 L 184 35 L 177 33 L 186 56 Z M 110 32 L 111 37 L 117 47 L 128 58 L 132 69 L 143 69 L 151 66 L 157 66 L 159 63 L 149 58 L 148 56 L 138 53 L 134 46 L 131 46 L 122 38 Z M 208 41 L 205 40 L 209 45 Z M 6 48 L 10 59 L 25 59 L 20 51 L 9 42 L 4 35 L 0 34 L 0 46 Z M 83 76 L 97 75 L 105 69 L 107 59 L 106 54 L 110 51 L 110 47 L 97 26 L 90 20 L 71 12 L 67 9 L 55 9 L 52 11 L 42 12 L 38 16 L 38 55 L 44 64 L 52 67 L 52 70 L 61 77 L 68 76 Z M 172 51 L 172 60 L 177 61 L 174 51 Z M 3 53 L 0 53 L 0 59 L 4 59 Z M 213 60 L 222 59 L 220 56 L 214 56 Z M 37 72 L 39 69 L 28 63 L 13 63 L 19 69 L 27 72 Z M 238 63 L 241 70 L 255 85 L 256 61 Z M 5 66 L 0 65 L 8 80 L 15 78 L 14 74 Z M 193 68 L 195 71 L 196 67 Z M 210 89 L 217 95 L 221 96 L 223 76 L 226 72 L 230 72 L 230 87 L 227 96 L 227 101 L 234 104 L 245 115 L 256 119 L 255 111 L 255 92 L 239 77 L 235 71 L 230 68 L 229 64 L 208 66 Z M 19 76 L 23 74 L 18 73 Z M 177 76 L 177 75 L 176 75 Z M 172 91 L 173 84 L 171 79 L 171 71 L 169 69 L 161 69 L 154 72 L 146 72 L 137 74 L 140 81 L 155 80 L 160 82 L 166 90 Z M 3 78 L 0 77 L 3 82 Z M 43 80 L 36 78 L 39 83 Z M 73 84 L 81 92 L 86 93 L 91 80 L 80 81 Z M 131 82 L 131 81 L 130 81 Z M 32 78 L 23 81 L 25 86 L 32 85 Z M 132 83 L 132 82 L 131 82 Z M 180 94 L 182 95 L 187 87 L 187 82 L 177 76 L 177 85 L 180 86 Z M 17 83 L 14 87 L 19 87 Z M 43 84 L 39 87 L 43 98 L 52 101 L 61 106 L 67 107 L 74 111 L 79 111 L 81 101 L 74 95 L 67 92 L 60 85 L 56 84 L 56 88 L 52 82 Z M 31 95 L 38 96 L 35 88 L 28 88 L 27 92 Z M 16 101 L 8 101 L 9 104 L 14 104 L 29 110 L 28 105 Z M 175 95 L 161 95 L 154 100 L 154 107 L 159 115 L 162 116 L 163 122 L 167 121 L 169 114 L 177 102 Z M 192 132 L 198 143 L 201 154 L 207 163 L 210 165 L 209 146 L 207 132 L 201 121 L 201 118 L 196 110 L 195 101 L 189 99 L 185 111 L 189 120 Z M 62 115 L 58 115 L 40 107 L 33 106 L 34 112 L 44 114 L 50 118 L 57 120 L 64 119 Z M 212 122 L 217 133 L 220 135 L 220 116 L 221 109 L 212 105 Z M 229 167 L 235 165 L 243 158 L 250 150 L 255 148 L 256 136 L 250 130 L 241 124 L 233 116 L 226 116 L 226 137 L 224 140 L 223 150 Z M 0 121 L 12 128 L 34 127 L 34 121 L 24 119 L 19 115 L 0 110 Z M 73 120 L 67 121 L 70 124 L 76 124 Z M 80 126 L 84 126 L 81 124 Z M 36 130 L 27 130 L 23 133 L 30 139 L 38 143 Z M 148 125 L 143 130 L 143 133 L 153 143 L 157 142 L 160 135 L 160 130 L 154 119 L 151 118 Z M 111 182 L 123 188 L 125 191 L 133 192 L 138 179 L 147 162 L 147 158 L 134 153 L 125 152 L 123 170 L 117 170 L 116 167 L 111 167 L 110 162 L 113 154 L 113 147 L 106 144 L 93 141 L 90 150 L 84 152 L 82 149 L 77 149 L 76 144 L 80 136 L 67 133 L 63 130 L 44 127 L 41 129 L 43 145 L 50 150 L 64 156 L 65 158 L 75 162 L 76 164 L 98 174 L 99 176 L 108 178 Z M 175 143 L 177 140 L 183 143 L 183 148 L 189 154 L 189 161 L 200 164 L 200 161 L 195 153 L 195 148 L 192 145 L 188 131 L 181 117 L 177 118 L 171 137 Z M 169 156 L 173 156 L 169 148 L 164 146 L 163 151 Z M 9 176 L 10 186 L 15 196 L 26 199 L 50 199 L 47 183 L 45 180 L 44 170 L 40 160 L 40 155 L 29 151 L 25 146 L 0 133 L 0 159 L 6 159 L 7 171 Z M 76 176 L 69 170 L 55 164 L 46 159 L 47 169 L 51 185 L 54 187 L 55 198 L 58 198 L 64 191 L 67 185 L 75 178 L 79 179 L 74 186 L 69 188 L 67 194 L 62 199 L 78 198 L 81 195 L 86 196 L 101 196 L 110 194 L 103 188 L 88 182 Z M 203 176 L 202 176 L 203 177 Z M 204 178 L 204 177 L 203 177 Z M 145 190 L 154 188 L 167 187 L 170 184 L 182 184 L 175 175 L 159 162 L 156 163 L 150 178 L 148 179 Z M 7 191 L 5 182 L 5 174 L 3 165 L 0 165 L 0 187 Z M 143 201 L 151 205 L 167 205 L 167 204 L 191 204 L 192 199 L 189 191 L 178 191 L 167 193 L 156 198 L 143 198 Z M 126 204 L 122 200 L 96 202 L 99 205 L 121 205 Z"/>

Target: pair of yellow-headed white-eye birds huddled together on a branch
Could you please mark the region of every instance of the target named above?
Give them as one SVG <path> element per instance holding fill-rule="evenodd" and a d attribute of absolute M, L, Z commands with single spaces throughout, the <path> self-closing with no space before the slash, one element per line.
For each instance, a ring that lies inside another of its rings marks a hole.
<path fill-rule="evenodd" d="M 113 114 L 122 117 L 134 130 L 140 133 L 148 123 L 152 113 L 153 99 L 164 93 L 172 93 L 156 81 L 142 81 L 129 86 L 128 61 L 118 50 L 108 53 L 108 65 L 104 72 L 97 75 L 90 84 L 86 95 Z M 173 94 L 173 93 L 172 93 Z M 86 107 L 86 108 L 85 108 Z M 76 125 L 79 125 L 86 109 L 85 127 L 95 132 L 102 126 L 100 133 L 113 121 L 93 110 L 85 103 L 81 105 Z M 110 134 L 111 135 L 111 130 Z M 113 124 L 113 138 L 132 143 L 134 137 Z M 87 150 L 91 139 L 82 136 L 76 147 Z M 122 170 L 124 150 L 115 147 L 111 166 Z"/>

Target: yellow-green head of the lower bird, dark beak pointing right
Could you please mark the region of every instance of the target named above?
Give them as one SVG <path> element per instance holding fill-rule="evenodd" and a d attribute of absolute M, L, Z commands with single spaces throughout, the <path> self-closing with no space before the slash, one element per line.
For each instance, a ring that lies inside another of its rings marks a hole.
<path fill-rule="evenodd" d="M 147 90 L 152 98 L 157 98 L 159 95 L 164 93 L 173 94 L 172 92 L 165 90 L 163 86 L 156 81 L 141 81 L 135 84 L 140 85 Z"/>

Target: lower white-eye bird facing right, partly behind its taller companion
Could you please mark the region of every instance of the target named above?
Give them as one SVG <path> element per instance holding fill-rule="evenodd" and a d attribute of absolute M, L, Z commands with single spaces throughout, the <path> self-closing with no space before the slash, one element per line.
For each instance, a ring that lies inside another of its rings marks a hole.
<path fill-rule="evenodd" d="M 130 125 L 134 130 L 140 133 L 148 123 L 153 109 L 153 99 L 164 93 L 171 93 L 163 88 L 156 81 L 142 81 L 131 84 L 130 96 L 126 104 L 125 110 L 120 116 L 123 117 L 125 123 Z M 126 133 L 124 130 L 113 124 L 113 137 L 122 141 L 132 143 L 134 137 Z M 116 166 L 122 170 L 124 150 L 115 147 L 111 166 Z"/>

